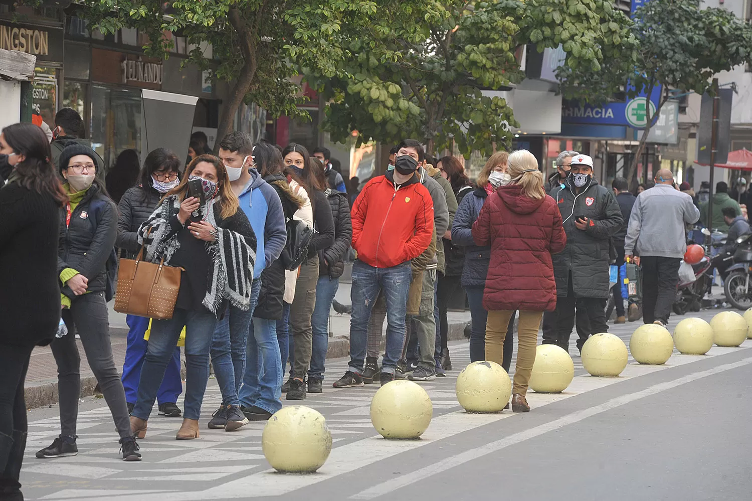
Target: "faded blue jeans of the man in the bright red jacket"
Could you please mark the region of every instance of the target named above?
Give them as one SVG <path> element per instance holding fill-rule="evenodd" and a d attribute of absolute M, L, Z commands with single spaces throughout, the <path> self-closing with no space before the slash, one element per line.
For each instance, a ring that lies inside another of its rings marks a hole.
<path fill-rule="evenodd" d="M 360 374 L 365 363 L 368 344 L 368 317 L 371 316 L 379 291 L 387 302 L 387 347 L 382 372 L 394 374 L 405 345 L 405 314 L 412 270 L 409 261 L 391 268 L 374 268 L 361 260 L 353 264 L 350 300 L 350 371 Z"/>

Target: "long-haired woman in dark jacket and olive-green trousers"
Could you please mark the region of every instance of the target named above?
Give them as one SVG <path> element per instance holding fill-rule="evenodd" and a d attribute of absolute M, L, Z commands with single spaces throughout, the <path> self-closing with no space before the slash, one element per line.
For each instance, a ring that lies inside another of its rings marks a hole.
<path fill-rule="evenodd" d="M 311 166 L 308 150 L 300 144 L 290 143 L 282 152 L 287 174 L 301 184 L 314 211 L 314 236 L 308 244 L 308 258 L 300 266 L 300 274 L 295 285 L 295 298 L 290 305 L 290 328 L 293 330 L 293 359 L 290 369 L 290 389 L 288 400 L 302 400 L 306 397 L 305 377 L 311 363 L 313 350 L 313 328 L 311 316 L 316 305 L 316 284 L 319 279 L 318 251 L 334 244 L 334 219 L 332 208 L 323 193 L 325 187 Z"/>

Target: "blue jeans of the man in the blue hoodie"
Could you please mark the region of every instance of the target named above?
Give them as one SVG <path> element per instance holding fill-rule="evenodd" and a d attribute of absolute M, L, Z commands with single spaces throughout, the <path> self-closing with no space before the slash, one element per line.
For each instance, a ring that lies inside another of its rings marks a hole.
<path fill-rule="evenodd" d="M 238 388 L 245 372 L 245 354 L 250 319 L 259 302 L 261 279 L 256 278 L 250 289 L 250 308 L 241 310 L 230 305 L 217 323 L 211 340 L 211 365 L 222 391 L 222 405 L 240 405 Z"/>

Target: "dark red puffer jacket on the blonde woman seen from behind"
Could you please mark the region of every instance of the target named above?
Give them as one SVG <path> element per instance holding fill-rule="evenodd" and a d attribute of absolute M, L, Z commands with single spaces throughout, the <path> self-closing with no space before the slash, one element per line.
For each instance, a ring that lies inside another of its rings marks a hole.
<path fill-rule="evenodd" d="M 531 199 L 517 184 L 488 196 L 472 226 L 475 244 L 491 246 L 483 305 L 489 310 L 552 311 L 556 281 L 551 254 L 566 233 L 550 196 Z"/>

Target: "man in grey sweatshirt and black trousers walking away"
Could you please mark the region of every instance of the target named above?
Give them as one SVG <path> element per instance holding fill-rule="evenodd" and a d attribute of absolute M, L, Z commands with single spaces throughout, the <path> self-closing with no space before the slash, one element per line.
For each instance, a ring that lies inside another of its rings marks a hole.
<path fill-rule="evenodd" d="M 679 265 L 687 251 L 686 224 L 696 223 L 700 212 L 692 197 L 673 186 L 674 175 L 660 169 L 656 185 L 637 196 L 624 238 L 627 260 L 637 256 L 642 267 L 644 323 L 669 323 L 679 281 Z"/>

